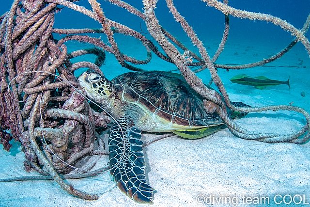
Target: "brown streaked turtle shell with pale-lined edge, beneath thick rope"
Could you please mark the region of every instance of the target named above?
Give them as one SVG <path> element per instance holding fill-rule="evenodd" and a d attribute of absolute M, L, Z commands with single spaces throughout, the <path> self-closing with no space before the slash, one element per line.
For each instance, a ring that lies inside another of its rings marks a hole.
<path fill-rule="evenodd" d="M 180 74 L 164 71 L 129 72 L 111 80 L 121 100 L 133 103 L 157 120 L 177 129 L 222 124 L 217 113 L 203 109 L 203 97 Z"/>

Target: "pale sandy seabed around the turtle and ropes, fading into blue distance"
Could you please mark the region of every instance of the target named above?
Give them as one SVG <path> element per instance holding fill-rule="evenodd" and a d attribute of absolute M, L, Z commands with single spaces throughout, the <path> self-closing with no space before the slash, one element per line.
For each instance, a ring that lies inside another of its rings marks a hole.
<path fill-rule="evenodd" d="M 240 60 L 247 63 L 251 62 L 255 53 L 259 53 L 259 57 L 256 57 L 257 60 L 268 55 L 268 48 L 261 49 L 254 45 L 253 47 L 254 49 L 242 54 L 247 45 L 228 44 L 219 59 L 219 63 L 238 63 Z M 130 50 L 135 51 L 136 48 L 130 48 Z M 273 48 L 273 50 L 277 52 L 276 49 Z M 239 55 L 233 55 L 235 51 L 238 51 Z M 141 59 L 143 57 L 145 57 L 145 53 L 141 55 Z M 299 63 L 298 58 L 301 58 L 304 61 L 303 65 L 307 65 L 308 68 L 259 67 L 230 72 L 219 69 L 219 75 L 233 101 L 242 101 L 252 106 L 288 105 L 293 101 L 294 106 L 300 106 L 310 111 L 308 104 L 310 101 L 308 75 L 310 58 L 304 48 L 299 44 L 281 60 L 270 65 L 297 65 Z M 225 62 L 225 60 L 229 61 Z M 109 78 L 127 71 L 121 68 L 109 54 L 107 55 L 106 65 L 102 68 Z M 153 55 L 152 63 L 144 66 L 144 68 L 148 70 L 158 68 L 170 70 L 175 66 L 163 63 Z M 259 90 L 251 86 L 231 84 L 229 79 L 236 74 L 263 75 L 276 80 L 287 80 L 290 76 L 291 88 L 289 89 L 287 85 L 279 85 Z M 198 76 L 205 83 L 209 80 L 207 70 L 199 73 Z M 305 92 L 305 97 L 300 96 L 302 91 Z M 275 113 L 268 111 L 267 113 L 248 114 L 246 118 L 236 122 L 253 133 L 285 134 L 298 130 L 302 124 L 305 124 L 305 119 L 294 112 L 278 111 Z M 149 138 L 150 136 L 142 136 L 143 140 Z M 154 196 L 154 207 L 209 206 L 206 203 L 203 205 L 197 203 L 196 196 L 198 194 L 204 198 L 212 194 L 217 199 L 224 196 L 231 199 L 238 197 L 238 202 L 242 202 L 239 200 L 242 196 L 253 199 L 255 197 L 268 197 L 271 205 L 275 205 L 273 199 L 277 194 L 281 196 L 305 194 L 306 202 L 310 202 L 309 143 L 297 145 L 248 141 L 235 137 L 226 128 L 199 140 L 166 138 L 152 143 L 144 150 L 147 178 L 151 186 L 157 191 Z M 23 161 L 24 154 L 17 143 L 14 144 L 11 152 L 0 150 L 0 177 L 36 175 L 23 170 Z M 105 157 L 100 160 L 96 167 L 107 162 L 108 159 Z M 0 207 L 141 206 L 119 191 L 116 184 L 110 180 L 109 173 L 93 178 L 68 180 L 67 182 L 72 183 L 78 190 L 99 193 L 101 197 L 97 201 L 83 201 L 67 194 L 55 181 L 0 183 Z M 200 199 L 202 198 L 200 197 Z M 209 202 L 209 200 L 200 201 Z M 235 202 L 236 200 L 232 201 Z M 295 201 L 299 202 L 299 198 L 295 197 Z M 219 202 L 221 203 L 222 200 Z M 250 200 L 248 202 L 251 203 Z M 239 203 L 239 206 L 248 207 L 252 205 Z M 253 204 L 253 206 L 259 205 Z"/>

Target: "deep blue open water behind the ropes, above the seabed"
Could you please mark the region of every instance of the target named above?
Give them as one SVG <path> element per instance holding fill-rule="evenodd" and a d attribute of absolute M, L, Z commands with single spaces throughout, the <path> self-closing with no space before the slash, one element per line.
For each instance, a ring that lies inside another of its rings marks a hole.
<path fill-rule="evenodd" d="M 0 14 L 8 11 L 10 9 L 12 0 L 1 2 Z M 148 34 L 144 22 L 125 9 L 120 8 L 116 5 L 111 4 L 107 0 L 98 1 L 103 8 L 103 12 L 106 17 L 119 22 L 125 26 L 128 26 L 138 32 L 141 32 L 148 39 L 155 40 Z M 143 11 L 143 4 L 140 0 L 128 0 L 129 4 L 135 6 L 140 11 Z M 87 9 L 92 10 L 89 2 L 87 0 L 79 0 L 76 2 L 78 5 L 84 6 Z M 176 0 L 174 1 L 175 7 L 178 9 L 179 13 L 185 17 L 190 26 L 194 29 L 197 36 L 202 40 L 203 45 L 207 48 L 209 55 L 212 57 L 216 52 L 218 45 L 221 41 L 223 31 L 224 31 L 224 15 L 215 8 L 207 6 L 205 2 L 200 0 Z M 305 23 L 307 16 L 309 15 L 310 1 L 309 0 L 273 0 L 273 1 L 257 1 L 257 0 L 232 0 L 229 1 L 229 5 L 250 12 L 259 12 L 264 14 L 270 14 L 277 16 L 279 18 L 285 19 L 291 23 L 294 27 L 301 29 Z M 59 6 L 62 8 L 63 6 Z M 160 25 L 167 31 L 171 32 L 178 40 L 180 40 L 186 47 L 194 51 L 196 54 L 199 53 L 198 49 L 193 46 L 190 39 L 186 36 L 182 27 L 178 22 L 175 21 L 169 9 L 166 6 L 164 0 L 159 0 L 157 3 L 157 8 L 155 10 L 156 17 L 159 20 Z M 101 28 L 99 22 L 93 20 L 92 18 L 78 13 L 72 9 L 63 8 L 61 12 L 55 15 L 54 28 L 59 29 L 81 29 L 81 28 Z M 306 33 L 309 34 L 309 32 Z M 62 35 L 63 37 L 64 35 Z M 106 36 L 103 34 L 94 34 L 93 36 L 102 36 L 103 40 L 107 40 Z M 60 39 L 59 34 L 54 35 L 55 39 Z M 224 51 L 217 60 L 217 64 L 247 64 L 262 60 L 263 58 L 268 58 L 273 54 L 276 54 L 281 49 L 285 48 L 292 40 L 293 36 L 290 32 L 286 32 L 279 26 L 275 26 L 273 23 L 268 23 L 266 21 L 259 20 L 248 20 L 241 19 L 237 17 L 230 16 L 230 31 L 228 35 L 228 41 L 224 48 Z M 116 42 L 121 49 L 121 52 L 137 59 L 145 59 L 146 50 L 140 43 L 140 41 L 134 39 L 133 37 L 125 36 L 123 34 L 115 34 Z M 77 42 L 70 42 L 72 47 L 86 48 L 87 44 L 79 44 Z M 156 43 L 155 43 L 156 45 Z M 68 47 L 68 52 L 74 51 L 76 48 Z M 289 53 L 294 53 L 294 58 L 290 58 L 290 65 L 292 66 L 305 66 L 309 59 L 307 51 L 298 43 L 292 51 Z M 85 58 L 86 57 L 86 58 Z M 87 60 L 91 59 L 92 55 L 86 55 L 82 58 Z M 229 58 L 227 58 L 229 57 Z M 78 57 L 81 58 L 81 57 Z M 77 58 L 77 59 L 78 59 Z M 277 60 L 277 63 L 282 63 L 283 59 L 288 59 L 287 54 L 284 57 Z M 79 60 L 79 59 L 78 59 Z M 107 58 L 107 62 L 109 62 Z M 113 60 L 115 61 L 115 60 Z M 153 54 L 154 62 L 160 62 L 161 60 L 156 59 Z M 77 61 L 78 62 L 78 61 Z M 108 63 L 106 63 L 108 65 Z M 166 66 L 161 68 L 163 70 L 177 70 L 173 64 L 164 63 Z M 275 64 L 267 64 L 268 66 Z M 283 66 L 279 64 L 280 66 Z M 153 66 L 153 65 L 152 65 Z M 115 65 L 114 71 L 124 70 L 120 65 Z M 143 69 L 151 70 L 149 64 L 142 65 Z M 144 68 L 145 67 L 145 68 Z M 108 66 L 103 66 L 104 68 L 109 68 Z M 250 68 L 242 70 L 242 73 L 248 73 L 248 71 L 253 72 L 260 70 L 262 67 Z M 160 69 L 160 68 L 157 68 Z M 270 68 L 268 68 L 270 69 Z M 272 70 L 273 68 L 271 68 Z M 223 70 L 223 69 L 219 69 Z M 282 71 L 290 71 L 289 68 L 282 68 Z M 105 75 L 109 76 L 109 70 L 105 72 Z M 208 72 L 202 72 L 203 75 L 207 75 Z M 238 71 L 239 73 L 239 71 Z M 79 74 L 76 74 L 78 76 Z M 111 74 L 112 75 L 112 74 Z M 201 75 L 201 76 L 203 76 Z M 271 77 L 273 78 L 273 77 Z M 287 78 L 286 78 L 287 80 Z"/>

